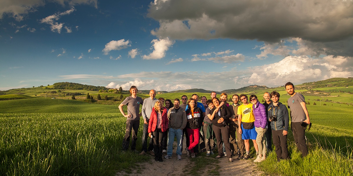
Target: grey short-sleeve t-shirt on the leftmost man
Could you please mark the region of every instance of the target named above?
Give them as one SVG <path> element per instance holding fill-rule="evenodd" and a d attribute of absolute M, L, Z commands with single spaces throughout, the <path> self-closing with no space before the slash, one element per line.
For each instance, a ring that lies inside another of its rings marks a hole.
<path fill-rule="evenodd" d="M 143 104 L 141 97 L 132 98 L 128 96 L 124 101 L 121 102 L 127 107 L 127 114 L 131 114 L 132 118 L 127 118 L 126 120 L 140 120 L 138 114 L 140 113 L 140 105 Z"/>

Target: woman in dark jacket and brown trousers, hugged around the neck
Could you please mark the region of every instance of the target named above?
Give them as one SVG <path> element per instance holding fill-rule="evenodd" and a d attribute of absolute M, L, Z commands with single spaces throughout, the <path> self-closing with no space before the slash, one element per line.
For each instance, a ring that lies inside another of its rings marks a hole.
<path fill-rule="evenodd" d="M 231 112 L 229 111 L 228 107 L 222 103 L 220 104 L 220 100 L 218 98 L 212 99 L 213 105 L 215 106 L 211 110 L 211 116 L 209 117 L 212 120 L 213 124 L 213 131 L 215 133 L 217 139 L 217 148 L 218 148 L 218 155 L 216 156 L 217 159 L 222 158 L 223 154 L 223 143 L 226 147 L 226 154 L 228 157 L 229 162 L 233 162 L 232 155 L 231 155 L 231 145 L 229 144 L 229 126 L 228 126 L 228 119 L 231 117 Z"/>

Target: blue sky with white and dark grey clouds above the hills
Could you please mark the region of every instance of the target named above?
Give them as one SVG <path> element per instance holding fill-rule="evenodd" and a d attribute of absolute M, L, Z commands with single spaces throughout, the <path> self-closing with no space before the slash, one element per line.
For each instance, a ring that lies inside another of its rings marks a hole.
<path fill-rule="evenodd" d="M 127 90 L 353 76 L 352 0 L 1 0 L 0 90 Z"/>

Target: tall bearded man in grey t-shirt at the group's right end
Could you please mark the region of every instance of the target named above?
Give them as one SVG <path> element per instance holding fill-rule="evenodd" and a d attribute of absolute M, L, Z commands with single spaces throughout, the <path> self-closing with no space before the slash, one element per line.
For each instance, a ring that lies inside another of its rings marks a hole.
<path fill-rule="evenodd" d="M 286 91 L 291 98 L 288 99 L 288 108 L 291 109 L 292 118 L 292 131 L 294 142 L 297 145 L 299 151 L 303 157 L 309 154 L 306 142 L 305 142 L 305 129 L 301 126 L 301 122 L 304 120 L 310 124 L 310 118 L 308 110 L 306 109 L 304 96 L 294 91 L 294 85 L 291 82 L 287 82 L 285 85 Z"/>

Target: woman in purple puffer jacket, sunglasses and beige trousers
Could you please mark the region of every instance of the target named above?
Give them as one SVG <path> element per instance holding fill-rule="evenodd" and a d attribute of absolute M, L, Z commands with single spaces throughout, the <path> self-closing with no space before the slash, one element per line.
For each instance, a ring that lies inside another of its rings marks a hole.
<path fill-rule="evenodd" d="M 257 132 L 256 144 L 259 148 L 259 153 L 254 162 L 262 162 L 266 159 L 266 138 L 267 131 L 267 114 L 263 104 L 261 104 L 256 95 L 250 96 L 250 102 L 253 104 L 252 109 L 255 116 L 255 130 Z"/>

